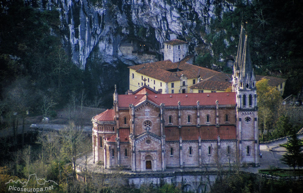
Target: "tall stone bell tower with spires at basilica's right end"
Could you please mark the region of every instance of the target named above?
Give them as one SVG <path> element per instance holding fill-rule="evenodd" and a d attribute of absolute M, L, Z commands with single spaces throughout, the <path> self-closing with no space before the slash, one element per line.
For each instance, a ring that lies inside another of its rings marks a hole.
<path fill-rule="evenodd" d="M 237 102 L 238 161 L 241 165 L 259 166 L 257 88 L 248 35 L 243 26 L 234 64 L 232 90 L 236 92 Z"/>

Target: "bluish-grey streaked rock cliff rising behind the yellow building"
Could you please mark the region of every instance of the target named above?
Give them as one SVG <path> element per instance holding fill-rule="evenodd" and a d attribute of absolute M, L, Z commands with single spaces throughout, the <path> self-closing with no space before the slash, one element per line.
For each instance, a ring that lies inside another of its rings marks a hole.
<path fill-rule="evenodd" d="M 104 62 L 125 60 L 119 47 L 130 41 L 143 42 L 161 54 L 162 42 L 179 38 L 188 41 L 190 53 L 195 54 L 194 47 L 204 43 L 202 34 L 208 33 L 211 18 L 235 9 L 232 3 L 223 0 L 24 1 L 40 9 L 60 12 L 62 41 L 81 69 L 92 51 L 94 57 Z"/>

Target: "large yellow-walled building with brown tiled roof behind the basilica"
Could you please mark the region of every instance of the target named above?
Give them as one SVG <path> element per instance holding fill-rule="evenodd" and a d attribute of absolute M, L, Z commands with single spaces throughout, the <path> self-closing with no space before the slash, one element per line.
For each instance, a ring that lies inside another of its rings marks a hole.
<path fill-rule="evenodd" d="M 198 79 L 221 73 L 186 63 L 190 58 L 185 57 L 180 62 L 164 60 L 128 67 L 129 89 L 135 91 L 146 84 L 156 91 L 162 89 L 162 94 L 189 93 L 189 87 Z"/>

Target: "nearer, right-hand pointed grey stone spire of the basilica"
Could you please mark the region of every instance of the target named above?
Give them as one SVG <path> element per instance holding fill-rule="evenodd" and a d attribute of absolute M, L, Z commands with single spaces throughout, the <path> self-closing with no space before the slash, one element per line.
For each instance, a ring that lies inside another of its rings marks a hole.
<path fill-rule="evenodd" d="M 255 77 L 253 75 L 252 63 L 251 63 L 251 56 L 249 51 L 248 45 L 248 35 L 245 35 L 245 41 L 243 45 L 243 51 L 241 56 L 240 62 L 240 80 L 247 79 L 251 81 L 251 78 Z"/>

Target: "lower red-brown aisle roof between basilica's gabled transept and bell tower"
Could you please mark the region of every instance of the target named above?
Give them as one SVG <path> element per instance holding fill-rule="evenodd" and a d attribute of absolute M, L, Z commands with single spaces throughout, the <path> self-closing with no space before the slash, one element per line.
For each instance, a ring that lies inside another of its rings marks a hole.
<path fill-rule="evenodd" d="M 198 140 L 201 136 L 201 140 L 217 140 L 220 139 L 236 139 L 237 132 L 235 126 L 201 126 L 197 127 L 170 127 L 165 128 L 166 141 L 178 141 L 180 136 L 182 140 Z"/>

